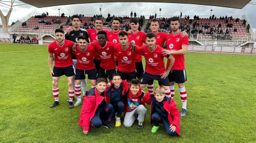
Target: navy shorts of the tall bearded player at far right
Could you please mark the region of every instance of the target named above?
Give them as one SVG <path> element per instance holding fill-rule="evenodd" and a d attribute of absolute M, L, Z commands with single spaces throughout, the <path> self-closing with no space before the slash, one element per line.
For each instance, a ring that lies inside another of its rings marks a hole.
<path fill-rule="evenodd" d="M 185 83 L 187 81 L 187 74 L 185 70 L 170 70 L 170 73 L 168 75 L 169 81 L 175 83 Z"/>

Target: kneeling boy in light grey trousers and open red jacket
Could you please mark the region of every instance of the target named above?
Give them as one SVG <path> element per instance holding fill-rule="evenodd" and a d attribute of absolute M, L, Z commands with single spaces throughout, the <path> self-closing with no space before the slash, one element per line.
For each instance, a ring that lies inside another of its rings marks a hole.
<path fill-rule="evenodd" d="M 140 81 L 137 79 L 131 80 L 130 90 L 123 95 L 123 101 L 125 101 L 125 110 L 123 111 L 123 125 L 125 127 L 131 127 L 134 121 L 139 121 L 137 129 L 143 129 L 143 121 L 145 119 L 146 108 L 145 108 L 145 98 L 146 96 L 142 89 L 140 89 Z M 148 93 L 149 94 L 149 93 Z M 150 96 L 150 94 L 148 95 Z M 148 99 L 151 102 L 150 97 Z"/>

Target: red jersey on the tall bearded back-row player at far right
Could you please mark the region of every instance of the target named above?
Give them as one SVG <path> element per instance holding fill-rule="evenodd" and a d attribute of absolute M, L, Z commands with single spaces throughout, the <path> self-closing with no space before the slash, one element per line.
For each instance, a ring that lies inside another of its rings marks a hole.
<path fill-rule="evenodd" d="M 167 50 L 170 51 L 178 51 L 181 50 L 182 46 L 189 46 L 189 37 L 184 36 L 181 37 L 181 32 L 179 32 L 176 35 L 173 35 L 172 33 L 169 34 L 166 37 L 166 44 L 167 44 Z M 172 56 L 175 58 L 175 62 L 172 66 L 172 69 L 176 70 L 184 70 L 185 69 L 185 60 L 184 60 L 184 54 L 181 55 L 175 55 L 172 54 Z M 167 67 L 169 66 L 170 60 L 167 60 Z"/>

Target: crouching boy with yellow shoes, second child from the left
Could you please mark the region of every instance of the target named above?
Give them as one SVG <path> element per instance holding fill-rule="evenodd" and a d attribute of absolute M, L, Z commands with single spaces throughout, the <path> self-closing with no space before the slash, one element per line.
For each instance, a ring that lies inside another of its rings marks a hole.
<path fill-rule="evenodd" d="M 119 73 L 113 74 L 113 80 L 110 84 L 111 86 L 107 87 L 104 94 L 107 104 L 113 105 L 113 110 L 108 119 L 108 123 L 111 122 L 115 113 L 117 112 L 115 126 L 119 127 L 121 125 L 120 117 L 123 109 L 125 108 L 122 96 L 129 90 L 130 84 L 123 81 Z"/>

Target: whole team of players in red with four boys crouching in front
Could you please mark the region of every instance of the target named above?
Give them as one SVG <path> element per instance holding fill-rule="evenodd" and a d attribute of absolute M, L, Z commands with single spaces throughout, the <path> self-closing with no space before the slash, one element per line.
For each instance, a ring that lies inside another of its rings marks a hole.
<path fill-rule="evenodd" d="M 115 126 L 120 126 L 122 113 L 125 127 L 131 127 L 137 119 L 137 128 L 143 129 L 145 104 L 151 104 L 150 118 L 154 124 L 151 132 L 157 132 L 162 123 L 170 136 L 180 135 L 180 117 L 187 111 L 184 54 L 189 45 L 186 32 L 179 30 L 180 19 L 170 19 L 172 33 L 169 35 L 158 32 L 157 19 L 151 20 L 152 32 L 148 34 L 138 31 L 136 18 L 130 19 L 131 30 L 128 32 L 119 30 L 120 19 L 117 17 L 113 18 L 113 31 L 110 32 L 102 30 L 101 19 L 95 19 L 96 29 L 81 29 L 80 17 L 76 15 L 72 16 L 72 24 L 66 34 L 62 29 L 56 29 L 56 41 L 48 47 L 55 99 L 50 108 L 59 105 L 58 81 L 66 75 L 69 85 L 67 102 L 69 108 L 82 104 L 79 124 L 84 134 L 87 135 L 90 127 L 113 129 L 110 122 L 114 116 Z M 164 42 L 167 50 L 162 48 Z M 145 71 L 142 56 L 146 61 Z M 166 66 L 164 57 L 167 58 Z M 88 91 L 86 74 L 92 87 Z M 154 80 L 159 86 L 153 93 Z M 180 89 L 181 113 L 173 101 L 175 83 Z M 144 92 L 146 86 L 149 93 Z"/>

